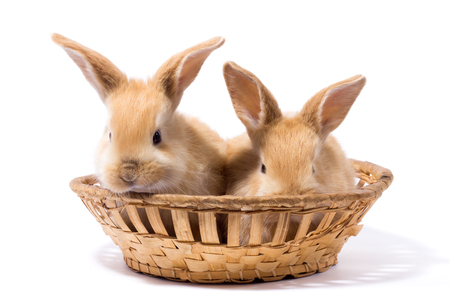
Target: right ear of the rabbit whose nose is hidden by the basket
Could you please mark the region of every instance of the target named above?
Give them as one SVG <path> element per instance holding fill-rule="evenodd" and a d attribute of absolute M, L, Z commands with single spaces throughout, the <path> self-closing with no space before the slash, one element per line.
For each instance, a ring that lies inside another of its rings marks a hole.
<path fill-rule="evenodd" d="M 366 78 L 356 75 L 321 90 L 305 103 L 300 117 L 326 138 L 345 119 L 365 84 Z"/>

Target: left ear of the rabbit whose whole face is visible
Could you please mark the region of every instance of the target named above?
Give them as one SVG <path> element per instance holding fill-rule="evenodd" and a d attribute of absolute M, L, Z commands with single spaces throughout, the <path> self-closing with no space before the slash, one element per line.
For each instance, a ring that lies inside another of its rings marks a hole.
<path fill-rule="evenodd" d="M 109 59 L 75 41 L 54 33 L 52 40 L 61 46 L 83 72 L 103 102 L 127 78 Z"/>

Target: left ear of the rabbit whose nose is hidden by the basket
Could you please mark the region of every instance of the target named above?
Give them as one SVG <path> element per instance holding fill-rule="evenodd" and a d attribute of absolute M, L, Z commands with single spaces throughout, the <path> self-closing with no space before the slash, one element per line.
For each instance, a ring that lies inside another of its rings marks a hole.
<path fill-rule="evenodd" d="M 281 118 L 282 113 L 275 97 L 251 72 L 234 62 L 226 62 L 223 76 L 236 115 L 249 135 Z"/>

